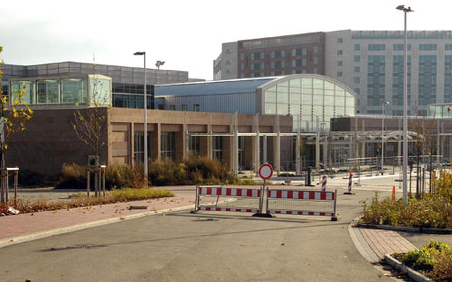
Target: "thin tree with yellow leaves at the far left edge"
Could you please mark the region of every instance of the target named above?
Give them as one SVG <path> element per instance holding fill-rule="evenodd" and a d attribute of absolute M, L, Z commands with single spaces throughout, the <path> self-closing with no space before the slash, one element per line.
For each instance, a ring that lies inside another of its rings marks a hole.
<path fill-rule="evenodd" d="M 3 46 L 0 46 L 0 53 L 3 51 Z M 24 103 L 24 96 L 27 93 L 26 84 L 23 84 L 21 89 L 13 89 L 9 91 L 10 98 L 3 95 L 3 86 L 1 85 L 1 78 L 3 77 L 3 70 L 1 65 L 4 64 L 3 59 L 0 60 L 0 158 L 1 158 L 1 203 L 6 202 L 5 185 L 6 176 L 6 150 L 8 149 L 7 137 L 13 133 L 25 131 L 26 122 L 31 119 L 33 111 L 27 103 Z"/>

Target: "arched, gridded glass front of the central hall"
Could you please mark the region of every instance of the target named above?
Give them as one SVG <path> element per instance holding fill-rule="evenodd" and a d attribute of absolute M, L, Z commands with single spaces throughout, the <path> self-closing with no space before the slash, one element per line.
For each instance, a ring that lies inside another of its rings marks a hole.
<path fill-rule="evenodd" d="M 263 114 L 292 115 L 294 131 L 328 131 L 330 119 L 353 116 L 356 94 L 332 79 L 287 76 L 263 86 Z"/>

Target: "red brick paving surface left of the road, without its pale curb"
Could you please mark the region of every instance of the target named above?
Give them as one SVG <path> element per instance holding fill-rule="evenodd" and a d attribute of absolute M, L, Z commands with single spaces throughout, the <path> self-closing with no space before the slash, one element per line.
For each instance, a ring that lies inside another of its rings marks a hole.
<path fill-rule="evenodd" d="M 170 198 L 2 216 L 0 217 L 0 241 L 144 212 L 188 205 L 194 207 L 194 201 L 194 193 L 193 195 L 176 193 L 174 197 Z M 147 206 L 148 208 L 146 210 L 129 210 L 129 206 Z"/>

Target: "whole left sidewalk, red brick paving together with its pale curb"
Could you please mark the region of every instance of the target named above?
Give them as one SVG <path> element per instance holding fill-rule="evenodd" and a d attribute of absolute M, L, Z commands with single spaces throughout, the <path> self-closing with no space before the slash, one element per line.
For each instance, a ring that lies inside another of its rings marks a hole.
<path fill-rule="evenodd" d="M 194 194 L 176 192 L 170 198 L 3 216 L 0 217 L 0 248 L 120 220 L 189 209 L 194 207 L 194 201 Z M 129 210 L 129 206 L 147 206 L 147 209 Z"/>

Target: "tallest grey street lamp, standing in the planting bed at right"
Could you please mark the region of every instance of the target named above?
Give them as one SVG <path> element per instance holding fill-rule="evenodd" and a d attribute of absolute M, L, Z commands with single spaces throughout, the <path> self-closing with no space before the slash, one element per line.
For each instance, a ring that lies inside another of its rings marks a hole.
<path fill-rule="evenodd" d="M 405 5 L 397 6 L 397 10 L 402 11 L 405 14 L 405 47 L 403 49 L 403 57 L 404 57 L 404 66 L 403 66 L 403 205 L 408 204 L 408 192 L 407 192 L 407 166 L 408 166 L 408 79 L 407 79 L 407 68 L 408 68 L 408 62 L 407 62 L 407 33 L 406 33 L 406 14 L 408 12 L 414 12 L 411 7 L 405 8 Z"/>

